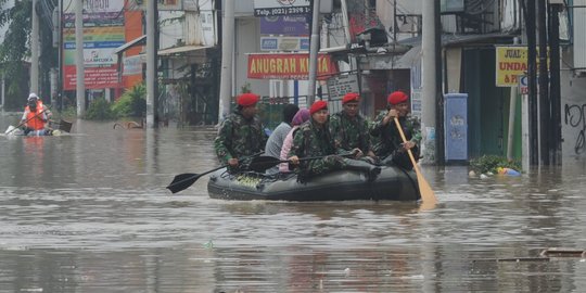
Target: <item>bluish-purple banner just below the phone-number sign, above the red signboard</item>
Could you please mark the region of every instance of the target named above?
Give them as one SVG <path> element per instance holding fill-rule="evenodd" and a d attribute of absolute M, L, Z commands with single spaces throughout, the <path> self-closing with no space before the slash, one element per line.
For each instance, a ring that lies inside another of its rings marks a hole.
<path fill-rule="evenodd" d="M 260 17 L 260 35 L 308 36 L 305 15 Z"/>

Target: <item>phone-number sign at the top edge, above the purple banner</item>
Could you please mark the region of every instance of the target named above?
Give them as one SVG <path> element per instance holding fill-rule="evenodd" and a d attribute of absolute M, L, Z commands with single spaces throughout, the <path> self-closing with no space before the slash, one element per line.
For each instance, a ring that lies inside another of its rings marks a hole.
<path fill-rule="evenodd" d="M 254 0 L 254 16 L 275 16 L 310 13 L 310 0 Z"/>

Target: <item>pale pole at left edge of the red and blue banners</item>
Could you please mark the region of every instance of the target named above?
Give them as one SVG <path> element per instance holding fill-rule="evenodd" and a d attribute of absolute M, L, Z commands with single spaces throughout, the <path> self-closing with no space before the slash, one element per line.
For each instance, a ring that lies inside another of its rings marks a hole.
<path fill-rule="evenodd" d="M 86 114 L 86 84 L 84 66 L 84 0 L 75 3 L 75 68 L 77 116 Z"/>

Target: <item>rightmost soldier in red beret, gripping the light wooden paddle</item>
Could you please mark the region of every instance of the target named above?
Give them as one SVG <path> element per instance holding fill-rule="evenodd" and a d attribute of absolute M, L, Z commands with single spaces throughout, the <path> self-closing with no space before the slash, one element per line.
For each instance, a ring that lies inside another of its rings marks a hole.
<path fill-rule="evenodd" d="M 411 150 L 413 156 L 419 160 L 419 143 L 421 141 L 421 124 L 417 117 L 408 116 L 409 97 L 403 91 L 394 91 L 388 94 L 387 111 L 381 112 L 374 119 L 370 133 L 379 139 L 374 145 L 374 153 L 382 158 L 382 163 L 392 163 L 412 169 L 407 150 Z M 403 132 L 407 139 L 404 143 L 395 125 L 394 118 L 398 117 Z"/>

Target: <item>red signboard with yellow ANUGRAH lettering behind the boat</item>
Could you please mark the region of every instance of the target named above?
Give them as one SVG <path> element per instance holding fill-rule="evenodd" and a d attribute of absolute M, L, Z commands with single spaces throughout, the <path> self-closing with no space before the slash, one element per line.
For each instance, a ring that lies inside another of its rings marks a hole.
<path fill-rule="evenodd" d="M 330 55 L 320 54 L 317 62 L 317 79 L 323 80 L 337 73 Z M 309 54 L 250 54 L 249 78 L 256 79 L 307 79 Z"/>

